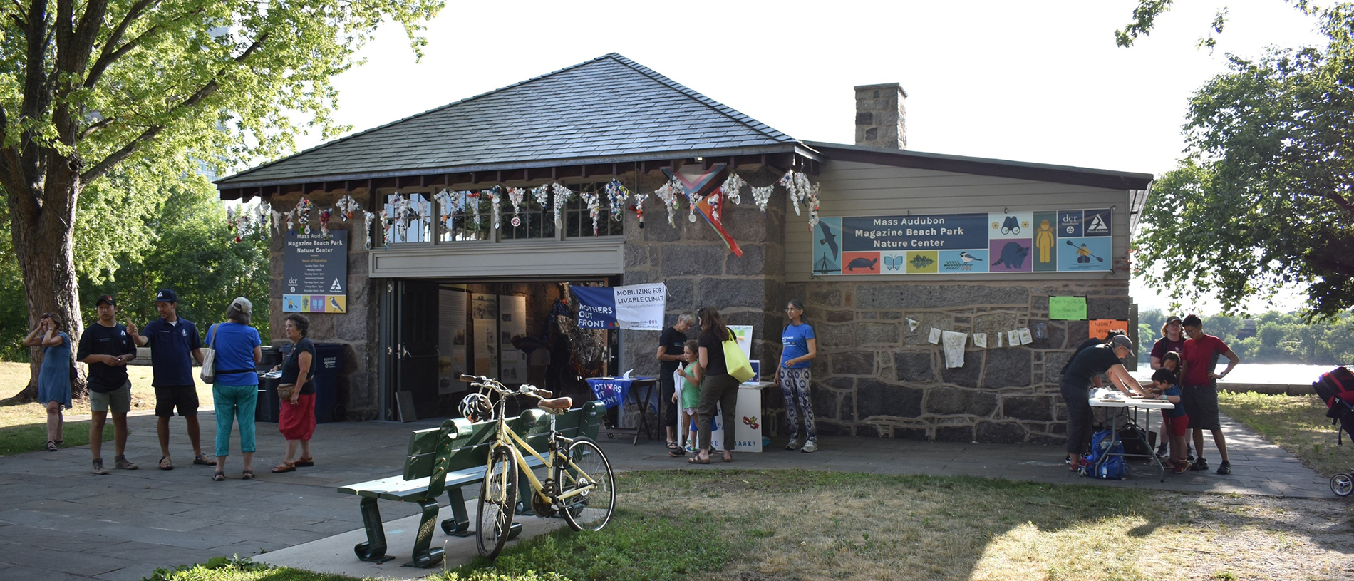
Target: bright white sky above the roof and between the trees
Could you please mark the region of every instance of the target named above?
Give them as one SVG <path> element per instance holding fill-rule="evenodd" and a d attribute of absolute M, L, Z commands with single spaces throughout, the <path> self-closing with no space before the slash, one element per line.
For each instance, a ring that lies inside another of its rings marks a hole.
<path fill-rule="evenodd" d="M 900 83 L 909 149 L 1159 175 L 1225 53 L 1323 39 L 1282 0 L 1182 0 L 1120 49 L 1135 4 L 448 1 L 421 62 L 399 27 L 379 34 L 336 80 L 336 116 L 360 131 L 615 51 L 799 139 L 850 144 L 852 87 Z M 1223 5 L 1217 49 L 1196 49 Z M 1133 297 L 1170 302 L 1136 283 Z"/>

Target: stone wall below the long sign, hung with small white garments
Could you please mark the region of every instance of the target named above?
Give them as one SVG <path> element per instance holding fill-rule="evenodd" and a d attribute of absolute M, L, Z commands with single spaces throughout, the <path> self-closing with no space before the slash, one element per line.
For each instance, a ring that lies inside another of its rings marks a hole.
<path fill-rule="evenodd" d="M 1048 297 L 1087 295 L 1090 318 L 1129 318 L 1122 280 L 810 282 L 788 295 L 806 298 L 818 337 L 814 413 L 829 435 L 1062 442 L 1067 412 L 1057 383 L 1089 324 L 1049 321 Z M 919 321 L 915 330 L 907 318 Z M 995 347 L 995 333 L 1036 322 L 1048 324 L 1047 339 Z M 932 328 L 969 333 L 963 367 L 945 368 L 941 347 L 927 343 Z M 975 348 L 972 333 L 988 333 L 988 348 Z M 784 404 L 770 393 L 770 425 L 783 429 Z"/>

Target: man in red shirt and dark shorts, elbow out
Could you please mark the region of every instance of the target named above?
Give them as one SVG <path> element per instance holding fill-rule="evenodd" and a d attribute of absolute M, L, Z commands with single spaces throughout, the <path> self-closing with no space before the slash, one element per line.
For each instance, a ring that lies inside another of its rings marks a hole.
<path fill-rule="evenodd" d="M 1217 379 L 1225 378 L 1232 368 L 1242 362 L 1231 348 L 1212 335 L 1204 333 L 1204 321 L 1197 314 L 1185 317 L 1185 341 L 1181 353 L 1181 405 L 1189 416 L 1189 427 L 1194 431 L 1194 450 L 1198 459 L 1190 470 L 1208 470 L 1208 460 L 1204 459 L 1204 431 L 1213 432 L 1213 443 L 1217 444 L 1217 454 L 1223 456 L 1223 463 L 1217 465 L 1219 474 L 1231 474 L 1232 463 L 1227 459 L 1227 439 L 1223 437 L 1223 424 L 1217 420 Z M 1227 358 L 1227 368 L 1221 374 L 1213 372 L 1217 356 Z"/>

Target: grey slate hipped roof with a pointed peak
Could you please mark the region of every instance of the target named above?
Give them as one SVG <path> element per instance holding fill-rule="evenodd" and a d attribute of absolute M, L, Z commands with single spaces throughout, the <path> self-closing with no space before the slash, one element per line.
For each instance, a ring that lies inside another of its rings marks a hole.
<path fill-rule="evenodd" d="M 218 187 L 808 150 L 612 53 L 236 173 Z"/>

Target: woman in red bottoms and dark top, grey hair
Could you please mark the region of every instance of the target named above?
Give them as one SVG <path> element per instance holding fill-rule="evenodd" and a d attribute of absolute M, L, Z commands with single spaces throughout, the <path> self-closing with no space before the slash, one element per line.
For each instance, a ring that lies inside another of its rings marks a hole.
<path fill-rule="evenodd" d="M 310 320 L 305 316 L 288 314 L 283 332 L 292 340 L 291 353 L 282 362 L 282 381 L 278 389 L 291 385 L 291 397 L 282 400 L 278 413 L 278 431 L 287 439 L 287 458 L 272 469 L 274 473 L 295 471 L 298 466 L 314 466 L 310 458 L 310 436 L 315 433 L 315 383 L 310 374 L 315 360 L 315 344 L 306 337 Z M 301 456 L 297 456 L 297 447 Z"/>

